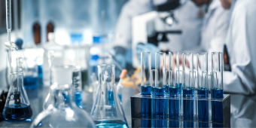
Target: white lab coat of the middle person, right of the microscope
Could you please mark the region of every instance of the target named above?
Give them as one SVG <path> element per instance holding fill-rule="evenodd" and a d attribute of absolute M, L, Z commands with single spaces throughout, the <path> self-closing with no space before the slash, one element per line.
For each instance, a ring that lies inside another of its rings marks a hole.
<path fill-rule="evenodd" d="M 212 52 L 223 52 L 229 26 L 229 14 L 229 10 L 222 7 L 221 0 L 212 0 L 207 13 L 203 17 L 200 47 L 194 47 L 186 51 L 195 54 L 201 51 L 208 52 L 209 60 Z"/>

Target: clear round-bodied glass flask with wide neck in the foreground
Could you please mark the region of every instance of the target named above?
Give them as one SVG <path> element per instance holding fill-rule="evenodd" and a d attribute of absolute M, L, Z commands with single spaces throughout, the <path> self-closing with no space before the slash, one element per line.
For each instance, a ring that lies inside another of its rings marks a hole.
<path fill-rule="evenodd" d="M 72 80 L 72 78 L 70 78 Z M 53 87 L 53 85 L 52 85 Z M 61 102 L 63 99 L 62 94 L 66 93 L 69 95 L 69 101 L 58 103 L 59 108 L 49 106 L 46 110 L 42 111 L 35 117 L 32 122 L 31 128 L 33 127 L 96 127 L 93 119 L 75 103 L 75 87 L 72 84 L 57 84 L 59 93 L 55 93 L 57 101 Z"/>

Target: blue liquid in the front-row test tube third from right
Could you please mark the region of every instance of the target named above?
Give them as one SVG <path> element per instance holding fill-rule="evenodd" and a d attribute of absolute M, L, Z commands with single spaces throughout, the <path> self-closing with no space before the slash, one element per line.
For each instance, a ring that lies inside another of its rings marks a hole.
<path fill-rule="evenodd" d="M 183 117 L 184 120 L 194 120 L 194 87 L 183 89 Z M 191 98 L 191 99 L 190 99 Z M 184 121 L 184 127 L 194 127 L 194 122 Z"/>

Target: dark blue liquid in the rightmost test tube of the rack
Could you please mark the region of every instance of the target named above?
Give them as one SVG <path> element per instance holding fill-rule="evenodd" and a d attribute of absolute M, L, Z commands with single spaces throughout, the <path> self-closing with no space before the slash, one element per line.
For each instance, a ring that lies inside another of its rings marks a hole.
<path fill-rule="evenodd" d="M 212 98 L 223 98 L 223 97 L 224 97 L 223 90 L 218 88 L 212 89 Z M 212 121 L 223 123 L 222 102 L 212 101 Z"/>

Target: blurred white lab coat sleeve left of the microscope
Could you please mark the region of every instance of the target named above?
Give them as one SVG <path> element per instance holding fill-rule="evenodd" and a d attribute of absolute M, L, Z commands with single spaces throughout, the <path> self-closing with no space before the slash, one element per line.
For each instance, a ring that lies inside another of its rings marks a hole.
<path fill-rule="evenodd" d="M 119 38 L 115 39 L 114 46 L 131 47 L 132 18 L 151 10 L 151 0 L 130 0 L 126 2 L 117 20 L 116 34 L 119 35 Z"/>

